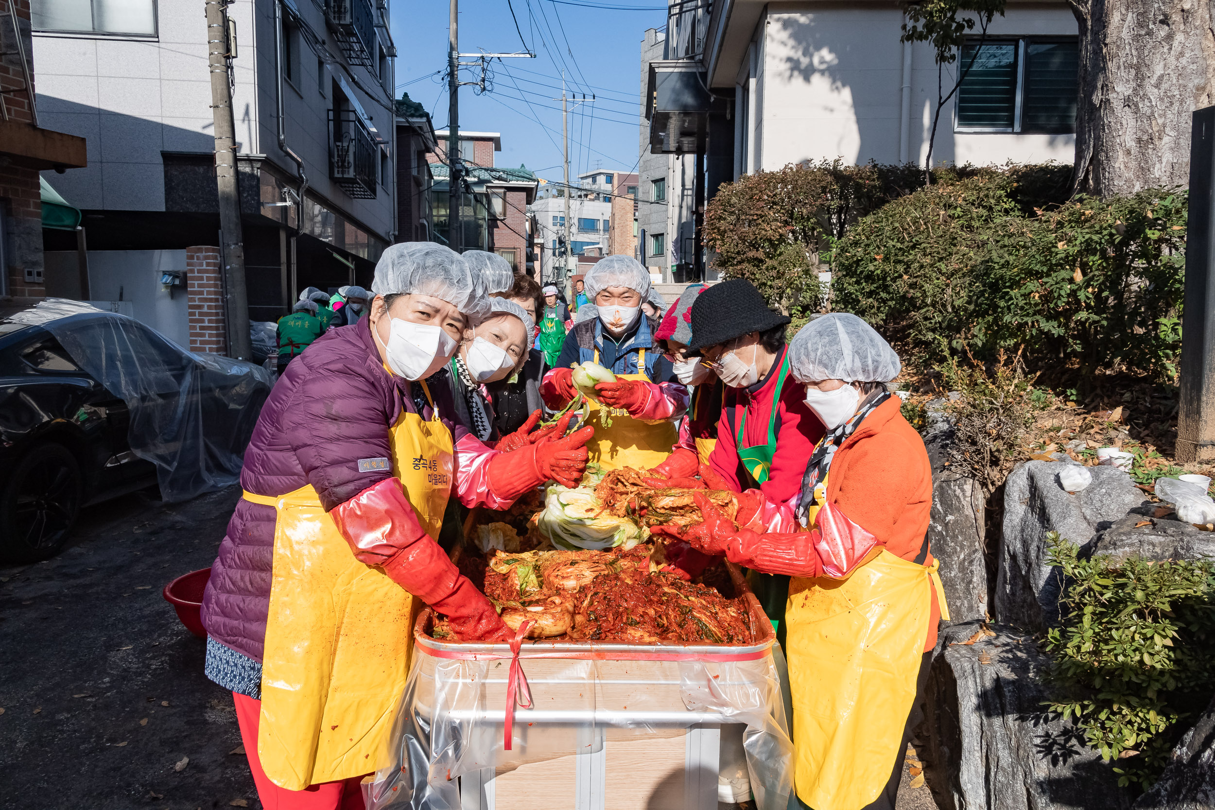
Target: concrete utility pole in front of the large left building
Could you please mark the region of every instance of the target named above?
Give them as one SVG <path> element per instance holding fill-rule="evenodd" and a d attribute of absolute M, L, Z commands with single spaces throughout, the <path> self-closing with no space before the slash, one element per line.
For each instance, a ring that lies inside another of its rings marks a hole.
<path fill-rule="evenodd" d="M 211 73 L 211 115 L 215 123 L 215 185 L 220 200 L 220 261 L 227 296 L 227 351 L 238 359 L 253 357 L 249 338 L 249 299 L 244 285 L 244 237 L 241 231 L 241 192 L 237 186 L 236 121 L 228 84 L 227 0 L 207 2 L 207 61 Z M 453 0 L 454 2 L 454 0 Z"/>

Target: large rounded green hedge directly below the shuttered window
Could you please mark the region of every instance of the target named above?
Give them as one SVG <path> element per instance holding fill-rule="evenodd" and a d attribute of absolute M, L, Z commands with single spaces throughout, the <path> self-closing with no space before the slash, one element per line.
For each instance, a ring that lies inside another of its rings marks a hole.
<path fill-rule="evenodd" d="M 836 244 L 831 308 L 902 341 L 912 362 L 1023 349 L 1039 367 L 1172 376 L 1186 192 L 1052 204 L 1053 182 L 1012 168 L 889 202 Z"/>

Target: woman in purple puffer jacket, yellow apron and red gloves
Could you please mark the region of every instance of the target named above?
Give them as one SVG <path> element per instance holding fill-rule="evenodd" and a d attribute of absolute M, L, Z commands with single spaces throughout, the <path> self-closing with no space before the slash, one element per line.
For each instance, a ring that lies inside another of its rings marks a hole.
<path fill-rule="evenodd" d="M 498 452 L 428 384 L 490 311 L 459 255 L 392 245 L 373 290 L 368 317 L 316 340 L 266 401 L 203 599 L 207 675 L 233 692 L 266 808 L 362 806 L 423 605 L 464 640 L 510 635 L 434 539 L 448 497 L 507 509 L 586 466 L 589 427 Z"/>

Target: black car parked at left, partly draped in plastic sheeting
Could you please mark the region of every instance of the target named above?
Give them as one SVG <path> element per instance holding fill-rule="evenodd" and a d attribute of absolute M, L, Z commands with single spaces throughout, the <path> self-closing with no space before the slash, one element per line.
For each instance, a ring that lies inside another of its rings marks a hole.
<path fill-rule="evenodd" d="M 119 315 L 0 323 L 0 560 L 53 556 L 81 506 L 234 482 L 271 385 Z"/>

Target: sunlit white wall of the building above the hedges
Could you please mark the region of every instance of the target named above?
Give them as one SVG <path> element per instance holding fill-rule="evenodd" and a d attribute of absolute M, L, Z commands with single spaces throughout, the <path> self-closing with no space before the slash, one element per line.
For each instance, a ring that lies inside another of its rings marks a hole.
<path fill-rule="evenodd" d="M 751 165 L 779 170 L 790 163 L 842 158 L 847 163 L 898 163 L 903 84 L 903 15 L 898 6 L 781 4 L 761 17 L 753 78 L 757 120 Z M 1010 5 L 990 35 L 1072 34 L 1075 18 L 1062 4 Z M 911 70 L 912 160 L 923 162 L 937 101 L 937 66 L 929 44 L 914 44 Z M 946 66 L 945 92 L 954 66 Z M 955 96 L 956 97 L 956 96 Z M 954 132 L 953 102 L 942 111 L 933 163 L 978 165 L 1006 160 L 1070 163 L 1074 135 Z"/>

